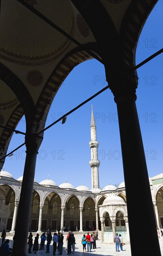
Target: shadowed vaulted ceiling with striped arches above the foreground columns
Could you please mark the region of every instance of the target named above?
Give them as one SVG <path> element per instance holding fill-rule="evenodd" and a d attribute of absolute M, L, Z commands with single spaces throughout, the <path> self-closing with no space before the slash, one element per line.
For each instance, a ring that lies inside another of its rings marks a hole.
<path fill-rule="evenodd" d="M 139 35 L 156 3 L 1 0 L 0 158 L 23 115 L 27 132 L 44 129 L 50 105 L 76 65 L 96 58 L 109 74 L 133 67 Z"/>

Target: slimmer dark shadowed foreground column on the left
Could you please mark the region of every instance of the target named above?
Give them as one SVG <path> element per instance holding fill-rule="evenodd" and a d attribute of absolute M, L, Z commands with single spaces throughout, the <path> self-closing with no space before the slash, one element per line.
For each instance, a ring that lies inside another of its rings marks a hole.
<path fill-rule="evenodd" d="M 25 168 L 15 227 L 12 256 L 26 256 L 27 237 L 30 224 L 33 182 L 38 154 L 38 138 L 33 134 L 26 134 L 25 143 Z"/>

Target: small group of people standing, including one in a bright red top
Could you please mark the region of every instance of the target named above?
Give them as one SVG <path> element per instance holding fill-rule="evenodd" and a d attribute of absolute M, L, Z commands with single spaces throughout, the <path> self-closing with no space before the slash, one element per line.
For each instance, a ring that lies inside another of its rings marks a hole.
<path fill-rule="evenodd" d="M 88 232 L 87 236 L 84 234 L 81 239 L 83 252 L 86 252 L 86 245 L 87 245 L 87 252 L 91 252 L 91 249 L 96 249 L 97 239 L 98 239 L 98 231 L 96 231 L 96 233 L 93 231 L 91 235 L 89 235 L 89 232 Z"/>

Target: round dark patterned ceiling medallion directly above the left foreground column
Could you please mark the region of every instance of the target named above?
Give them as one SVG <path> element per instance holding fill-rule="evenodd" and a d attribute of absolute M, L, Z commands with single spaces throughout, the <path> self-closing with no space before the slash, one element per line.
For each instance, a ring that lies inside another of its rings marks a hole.
<path fill-rule="evenodd" d="M 30 72 L 28 72 L 26 80 L 29 85 L 33 87 L 38 87 L 43 82 L 43 74 L 39 70 L 31 70 Z"/>

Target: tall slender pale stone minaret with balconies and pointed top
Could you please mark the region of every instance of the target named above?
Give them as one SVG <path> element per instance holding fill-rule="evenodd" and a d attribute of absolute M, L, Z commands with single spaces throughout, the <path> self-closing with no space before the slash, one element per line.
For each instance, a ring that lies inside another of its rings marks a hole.
<path fill-rule="evenodd" d="M 89 142 L 89 147 L 91 148 L 91 161 L 89 161 L 89 165 L 92 170 L 92 189 L 99 189 L 100 161 L 98 160 L 98 154 L 97 154 L 99 142 L 97 141 L 97 138 L 96 138 L 96 125 L 94 121 L 93 107 L 92 107 L 92 115 L 91 115 L 91 141 Z"/>

